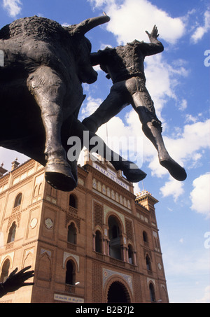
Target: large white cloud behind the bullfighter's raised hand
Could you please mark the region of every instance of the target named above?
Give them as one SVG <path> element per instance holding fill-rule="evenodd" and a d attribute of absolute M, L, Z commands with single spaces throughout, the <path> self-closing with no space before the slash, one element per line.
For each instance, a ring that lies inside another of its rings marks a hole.
<path fill-rule="evenodd" d="M 160 31 L 160 37 L 175 44 L 185 32 L 185 24 L 180 17 L 170 17 L 167 12 L 148 0 L 90 0 L 111 17 L 107 29 L 116 35 L 119 44 L 133 41 L 148 41 L 145 31 L 151 31 L 154 24 Z M 148 18 L 149 17 L 149 18 Z"/>

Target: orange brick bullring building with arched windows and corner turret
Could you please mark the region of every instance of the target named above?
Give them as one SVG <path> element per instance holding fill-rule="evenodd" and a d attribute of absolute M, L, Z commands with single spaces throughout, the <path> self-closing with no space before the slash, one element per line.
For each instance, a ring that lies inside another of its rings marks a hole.
<path fill-rule="evenodd" d="M 35 271 L 34 286 L 0 302 L 169 302 L 158 200 L 89 158 L 72 192 L 45 183 L 34 160 L 0 171 L 0 281 L 15 267 Z"/>

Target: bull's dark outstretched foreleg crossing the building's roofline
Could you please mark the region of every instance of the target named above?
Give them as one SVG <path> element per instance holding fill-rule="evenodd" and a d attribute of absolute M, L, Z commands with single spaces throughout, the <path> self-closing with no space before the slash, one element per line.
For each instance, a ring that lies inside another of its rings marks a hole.
<path fill-rule="evenodd" d="M 117 153 L 113 152 L 113 150 L 111 150 L 111 148 L 109 148 L 109 146 L 107 146 L 106 143 L 99 136 L 97 136 L 97 134 L 87 130 L 87 127 L 85 127 L 85 125 L 83 125 L 83 123 L 79 120 L 74 121 L 73 132 L 80 138 L 82 147 L 85 146 L 89 149 L 89 151 L 95 148 L 95 144 L 90 142 L 91 139 L 94 138 L 97 140 L 97 142 L 101 145 L 101 147 L 99 147 L 98 154 L 106 158 L 107 161 L 111 162 L 117 171 L 123 171 L 127 181 L 137 183 L 146 177 L 146 173 L 141 171 L 141 169 L 137 167 L 137 164 L 127 161 Z M 84 138 L 84 132 L 88 132 L 87 140 Z M 88 142 L 87 144 L 84 143 L 86 141 Z"/>

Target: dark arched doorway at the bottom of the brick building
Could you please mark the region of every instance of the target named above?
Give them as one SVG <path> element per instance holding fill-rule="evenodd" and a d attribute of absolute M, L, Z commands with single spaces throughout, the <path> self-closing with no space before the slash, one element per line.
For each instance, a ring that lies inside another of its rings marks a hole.
<path fill-rule="evenodd" d="M 109 288 L 107 295 L 108 303 L 130 303 L 130 295 L 123 285 L 120 282 L 113 282 Z"/>

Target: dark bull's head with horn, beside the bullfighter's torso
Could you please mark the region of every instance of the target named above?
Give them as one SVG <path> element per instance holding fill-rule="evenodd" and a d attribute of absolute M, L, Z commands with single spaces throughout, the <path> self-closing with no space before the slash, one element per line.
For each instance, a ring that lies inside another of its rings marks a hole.
<path fill-rule="evenodd" d="M 78 52 L 76 52 L 76 62 L 78 64 L 78 78 L 82 83 L 92 84 L 97 80 L 97 72 L 92 68 L 90 61 L 91 43 L 85 38 L 85 33 L 97 27 L 100 24 L 109 22 L 110 17 L 104 13 L 100 17 L 91 17 L 89 19 L 80 22 L 79 24 L 74 24 L 66 29 L 69 34 L 76 40 L 76 47 Z"/>

